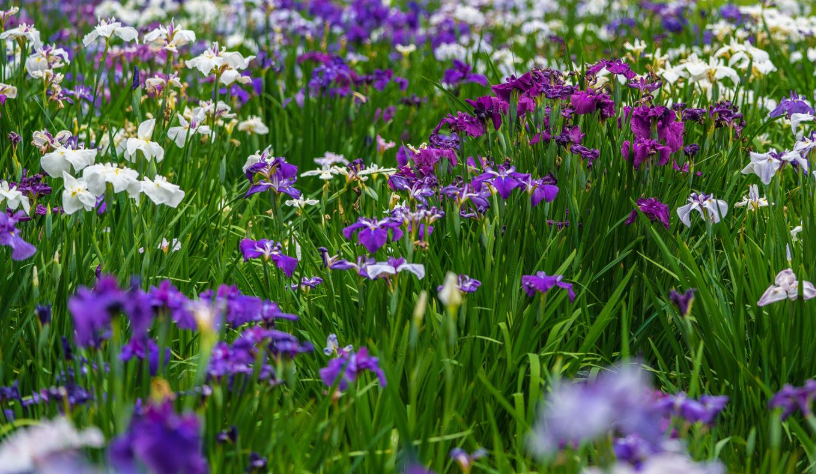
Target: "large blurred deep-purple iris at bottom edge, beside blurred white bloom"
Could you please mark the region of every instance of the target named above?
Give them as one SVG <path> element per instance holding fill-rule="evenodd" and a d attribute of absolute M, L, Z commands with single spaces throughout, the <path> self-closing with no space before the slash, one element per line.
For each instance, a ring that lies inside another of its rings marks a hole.
<path fill-rule="evenodd" d="M 201 424 L 195 414 L 176 415 L 172 402 L 148 405 L 128 431 L 113 441 L 111 463 L 124 472 L 143 465 L 156 474 L 204 474 Z"/>

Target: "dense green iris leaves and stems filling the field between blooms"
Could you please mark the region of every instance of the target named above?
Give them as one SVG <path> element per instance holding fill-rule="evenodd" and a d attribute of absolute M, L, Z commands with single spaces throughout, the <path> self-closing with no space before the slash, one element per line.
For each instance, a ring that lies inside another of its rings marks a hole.
<path fill-rule="evenodd" d="M 355 239 L 343 237 L 345 227 L 359 217 L 382 219 L 403 201 L 416 209 L 418 202 L 390 188 L 384 173 L 366 181 L 347 181 L 343 176 L 323 181 L 300 174 L 316 168 L 314 158 L 326 152 L 348 160 L 361 158 L 367 166 L 395 168 L 400 146 L 419 147 L 448 113 L 473 112 L 465 99 L 491 94 L 476 83 L 442 83 L 452 64 L 434 57 L 441 28 L 431 27 L 429 17 L 444 7 L 424 7 L 427 13 L 419 17 L 427 37 L 418 36 L 416 51 L 405 54 L 393 47 L 389 38 L 393 33 L 362 43 L 348 40 L 350 26 L 324 29 L 318 22 L 304 34 L 288 24 L 275 24 L 278 17 L 263 24 L 258 21 L 262 14 L 249 13 L 286 9 L 284 4 L 265 10 L 263 5 L 230 7 L 220 2 L 220 19 L 209 22 L 195 21 L 182 8 L 158 23 L 169 25 L 175 16 L 177 23 L 196 32 L 197 41 L 168 56 L 141 45 L 136 54 L 133 43 L 119 38 L 110 48 L 104 41 L 84 47 L 82 38 L 96 20 L 91 8 L 81 3 L 26 3 L 5 25 L 9 30 L 20 21 L 33 21 L 44 40 L 59 34 L 53 41 L 70 54 L 70 64 L 58 71 L 66 74 L 63 89 L 84 85 L 93 91 L 99 84 L 99 90 L 94 106 L 75 100 L 60 107 L 49 100 L 53 86 L 44 92 L 42 81 L 29 77 L 19 63 L 10 63 L 13 56 L 4 56 L 2 64 L 7 67 L 0 83 L 16 86 L 17 97 L 0 107 L 0 179 L 17 182 L 23 170 L 29 176 L 40 171 L 42 154 L 32 144 L 35 131 L 46 129 L 56 135 L 67 130 L 91 148 L 98 147 L 103 137 L 110 141 L 122 128 L 135 136 L 139 123 L 155 117 L 152 140 L 165 151 L 161 162 L 138 155 L 129 163 L 121 150 L 102 151 L 96 161 L 128 166 L 140 176 L 165 176 L 185 196 L 172 208 L 156 205 L 144 195 L 134 201 L 109 186 L 103 193 L 104 212 L 64 215 L 52 212 L 63 206 L 64 181 L 44 178 L 53 192 L 31 204 L 42 204 L 48 212 L 32 211 L 30 221 L 17 225 L 22 238 L 37 247 L 36 254 L 13 261 L 11 250 L 0 248 L 0 386 L 17 382 L 22 395 L 22 400 L 13 400 L 0 394 L 3 436 L 65 414 L 77 427 L 97 427 L 112 440 L 128 431 L 134 406 L 172 399 L 177 412 L 198 416 L 201 451 L 213 473 L 246 471 L 250 453 L 267 459 L 268 467 L 261 472 L 402 472 L 414 462 L 436 472 L 457 472 L 460 468 L 448 455 L 457 447 L 468 452 L 487 449 L 489 456 L 476 461 L 473 472 L 578 472 L 612 462 L 612 435 L 539 459 L 528 449 L 528 433 L 537 423 L 539 409 L 559 381 L 592 380 L 610 365 L 634 360 L 649 372 L 653 386 L 666 393 L 729 397 L 716 423 L 675 425 L 693 459 L 718 460 L 729 472 L 811 470 L 816 462 L 816 420 L 801 413 L 783 420 L 768 402 L 786 383 L 799 386 L 816 376 L 812 344 L 816 303 L 802 297 L 763 307 L 757 302 L 786 268 L 793 269 L 800 282 L 816 281 L 816 249 L 811 245 L 816 235 L 814 177 L 788 165 L 764 185 L 756 175 L 741 171 L 750 151 L 793 149 L 796 137 L 788 120 L 770 118 L 770 108 L 762 102 L 778 102 L 789 91 L 810 98 L 814 67 L 807 50 L 816 46 L 812 36 L 794 40 L 762 18 L 746 17 L 742 28 L 755 46 L 769 53 L 775 71 L 752 74 L 749 61 L 748 70 L 736 68 L 738 84 L 722 79 L 706 93 L 689 79 L 664 82 L 651 99 L 612 79 L 603 88 L 614 101 L 615 115 L 607 120 L 597 112 L 565 119 L 560 112 L 569 98 L 542 96 L 523 116 L 512 105 L 498 130 L 488 122 L 483 136 L 460 133 L 458 164 L 447 167 L 443 161 L 436 168 L 439 188 L 458 176 L 470 181 L 483 172 L 466 166 L 468 157 L 484 157 L 497 165 L 506 158 L 534 178 L 552 173 L 557 197 L 533 206 L 520 189 L 507 200 L 494 193 L 484 213 L 465 218 L 454 200 L 436 192 L 428 204 L 445 215 L 433 223 L 429 236 L 419 239 L 416 229 L 406 229 L 401 239 L 372 255 L 377 261 L 404 257 L 422 264 L 424 278 L 403 272 L 370 280 L 353 270 L 324 268 L 318 248 L 356 261 L 368 252 Z M 646 53 L 697 45 L 707 62 L 730 41 L 704 38 L 706 25 L 720 19 L 711 3 L 684 10 L 680 16 L 686 23 L 668 33 L 661 24 L 666 13 L 615 2 L 604 19 L 582 13 L 577 2 L 566 2 L 543 17 L 561 21 L 561 26 L 550 23 L 558 41 L 545 35 L 536 44 L 534 33 L 517 36 L 518 28 L 532 18 L 519 25 L 474 26 L 471 38 L 489 38 L 494 50 L 506 46 L 516 62 L 502 62 L 477 47 L 462 59 L 495 85 L 511 72 L 527 72 L 530 60 L 546 58 L 547 66 L 569 73 L 569 83 L 585 90 L 593 85 L 587 69 L 601 59 L 628 55 L 638 74 L 661 70 L 649 57 L 635 57 L 624 47 L 636 38 L 646 41 Z M 394 8 L 409 11 L 402 2 L 395 2 Z M 484 9 L 488 17 L 495 14 Z M 310 17 L 305 11 L 303 15 Z M 585 27 L 604 27 L 613 18 L 624 17 L 636 21 L 619 34 L 599 36 Z M 251 24 L 237 26 L 247 18 Z M 140 43 L 158 23 L 138 25 Z M 221 92 L 212 76 L 205 80 L 184 66 L 211 41 L 226 41 L 236 31 L 244 35 L 243 43 L 228 49 L 259 56 L 247 69 L 257 79 L 254 87 L 237 86 L 248 93 L 246 102 L 237 91 Z M 661 37 L 656 40 L 656 35 Z M 461 36 L 457 33 L 454 40 Z M 525 37 L 527 41 L 521 41 Z M 309 80 L 316 63 L 298 61 L 310 51 L 344 57 L 354 51 L 367 58 L 352 62 L 356 73 L 390 69 L 394 76 L 407 79 L 407 89 L 391 80 L 383 90 L 360 85 L 346 96 L 314 90 Z M 796 52 L 805 60 L 794 61 Z M 33 53 L 26 44 L 22 59 Z M 271 62 L 265 59 L 270 57 Z M 685 57 L 679 55 L 672 64 Z M 146 79 L 169 72 L 179 74 L 184 91 L 151 93 Z M 135 74 L 137 87 L 132 87 Z M 306 95 L 302 105 L 296 97 L 301 89 Z M 417 105 L 404 100 L 413 95 L 422 99 Z M 208 116 L 205 123 L 215 139 L 193 135 L 177 147 L 168 137 L 169 127 L 178 124 L 176 114 L 208 99 L 230 104 L 237 121 L 260 117 L 268 133 L 246 133 L 228 118 Z M 682 151 L 671 155 L 680 167 L 690 165 L 687 172 L 654 162 L 635 169 L 621 157 L 624 141 L 633 140 L 624 106 L 682 102 L 708 109 L 724 99 L 732 100 L 743 114 L 744 128 L 717 126 L 711 116 L 702 123 L 687 121 L 683 142 L 698 144 L 699 152 L 693 158 Z M 386 121 L 383 111 L 391 106 L 394 115 Z M 599 150 L 598 160 L 588 167 L 586 160 L 555 140 L 530 144 L 545 117 L 553 135 L 566 120 L 580 127 L 585 134 L 582 145 Z M 802 125 L 806 135 L 811 125 Z M 19 145 L 6 138 L 9 132 L 22 137 Z M 378 137 L 397 146 L 378 149 Z M 285 201 L 291 198 L 274 192 L 245 198 L 250 182 L 242 166 L 248 156 L 266 147 L 271 147 L 272 156 L 286 157 L 298 167 L 294 186 L 304 197 L 317 200 L 316 205 L 287 206 Z M 752 184 L 759 185 L 771 205 L 755 211 L 735 207 Z M 691 227 L 686 227 L 676 209 L 692 192 L 726 201 L 728 214 L 717 224 L 694 214 Z M 642 213 L 634 224 L 626 224 L 636 201 L 648 197 L 668 205 L 668 229 Z M 0 208 L 6 205 L 0 202 Z M 566 221 L 568 225 L 556 224 Z M 794 238 L 791 230 L 800 225 L 802 231 Z M 245 238 L 282 242 L 283 253 L 299 260 L 294 275 L 287 278 L 262 259 L 245 261 L 239 251 Z M 180 246 L 162 250 L 163 239 L 178 239 Z M 529 297 L 522 289 L 522 276 L 537 271 L 563 275 L 573 285 L 575 300 L 558 288 Z M 448 272 L 469 275 L 481 286 L 464 295 L 461 305 L 446 307 L 437 287 Z M 134 284 L 144 290 L 170 280 L 191 300 L 219 285 L 235 285 L 244 295 L 277 302 L 284 313 L 297 315 L 297 321 L 278 320 L 276 328 L 312 343 L 315 350 L 293 359 L 267 358 L 261 351 L 251 373 L 219 380 L 206 375 L 214 344 L 233 342 L 246 327 L 182 329 L 167 311 L 157 310 L 149 336 L 158 345 L 161 360 L 151 375 L 144 361 L 120 359 L 122 345 L 135 337 L 131 318 L 114 316 L 110 338 L 97 348 L 75 343 L 76 318 L 83 315 L 73 314 L 67 303 L 81 287 L 94 287 L 98 274 L 113 275 L 122 288 L 135 278 Z M 323 279 L 315 288 L 290 286 L 314 276 Z M 683 315 L 669 294 L 689 288 L 696 289 L 695 298 L 690 314 Z M 37 317 L 40 305 L 51 305 L 52 319 L 45 324 Z M 336 334 L 341 347 L 368 348 L 379 358 L 387 384 L 371 373 L 342 393 L 335 392 L 337 384 L 327 387 L 319 371 L 332 358 L 321 351 L 330 334 Z M 73 358 L 66 357 L 63 338 L 71 344 Z M 165 348 L 170 350 L 166 360 Z M 259 381 L 262 359 L 275 369 L 279 383 Z M 29 403 L 32 394 L 66 386 L 69 370 L 74 371 L 72 384 L 87 390 L 86 402 Z M 233 426 L 236 440 L 218 439 Z M 107 448 L 94 448 L 83 456 L 101 469 L 107 453 Z M 2 466 L 0 472 L 5 472 Z"/>

